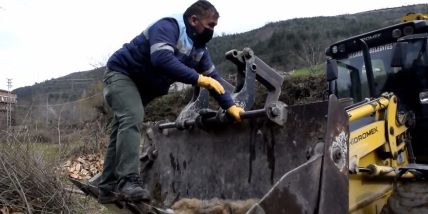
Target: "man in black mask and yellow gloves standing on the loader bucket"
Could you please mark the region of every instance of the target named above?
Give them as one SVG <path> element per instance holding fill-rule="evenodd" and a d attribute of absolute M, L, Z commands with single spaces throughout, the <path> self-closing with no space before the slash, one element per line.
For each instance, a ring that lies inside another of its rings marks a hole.
<path fill-rule="evenodd" d="M 210 2 L 198 0 L 184 14 L 150 24 L 109 58 L 104 98 L 114 111 L 114 120 L 98 185 L 100 203 L 115 200 L 110 191 L 117 192 L 121 200 L 150 200 L 139 170 L 144 107 L 167 94 L 172 83 L 209 89 L 220 107 L 241 121 L 244 110 L 222 86 L 206 46 L 218 18 Z"/>

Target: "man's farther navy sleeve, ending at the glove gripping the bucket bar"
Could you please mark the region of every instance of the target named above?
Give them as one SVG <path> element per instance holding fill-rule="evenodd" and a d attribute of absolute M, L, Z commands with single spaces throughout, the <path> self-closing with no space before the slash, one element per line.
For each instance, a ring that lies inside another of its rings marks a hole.
<path fill-rule="evenodd" d="M 235 105 L 230 91 L 226 89 L 223 79 L 214 67 L 208 49 L 205 50 L 205 53 L 200 59 L 197 71 L 204 76 L 210 76 L 213 79 L 217 80 L 225 88 L 224 94 L 218 94 L 215 91 L 210 90 L 211 95 L 214 97 L 214 99 L 217 101 L 221 108 L 228 109 Z"/>

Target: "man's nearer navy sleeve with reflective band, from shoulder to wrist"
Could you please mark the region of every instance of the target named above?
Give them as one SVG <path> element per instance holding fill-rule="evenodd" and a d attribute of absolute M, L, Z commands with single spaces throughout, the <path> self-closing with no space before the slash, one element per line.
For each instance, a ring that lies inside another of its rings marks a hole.
<path fill-rule="evenodd" d="M 151 63 L 175 81 L 196 85 L 199 74 L 174 55 L 178 36 L 178 25 L 174 19 L 163 18 L 154 23 L 148 30 Z"/>

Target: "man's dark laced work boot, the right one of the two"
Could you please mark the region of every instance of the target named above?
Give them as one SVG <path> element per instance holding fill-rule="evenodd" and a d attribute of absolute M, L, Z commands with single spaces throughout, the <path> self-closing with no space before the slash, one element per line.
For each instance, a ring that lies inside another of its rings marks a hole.
<path fill-rule="evenodd" d="M 119 182 L 119 196 L 124 201 L 150 202 L 150 193 L 143 188 L 140 176 L 130 176 Z"/>

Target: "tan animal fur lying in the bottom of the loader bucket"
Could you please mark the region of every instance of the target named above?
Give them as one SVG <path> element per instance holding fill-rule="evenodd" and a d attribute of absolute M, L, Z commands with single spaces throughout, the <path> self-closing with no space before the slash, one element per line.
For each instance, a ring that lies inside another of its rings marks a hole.
<path fill-rule="evenodd" d="M 245 214 L 257 203 L 257 199 L 223 200 L 213 198 L 199 200 L 183 198 L 171 207 L 175 214 Z"/>

